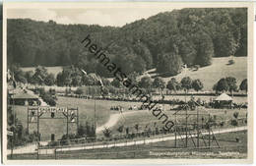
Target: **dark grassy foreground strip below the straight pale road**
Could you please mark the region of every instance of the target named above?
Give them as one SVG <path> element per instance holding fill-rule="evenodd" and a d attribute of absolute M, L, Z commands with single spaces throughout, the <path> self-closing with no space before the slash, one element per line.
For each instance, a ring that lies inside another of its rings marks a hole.
<path fill-rule="evenodd" d="M 209 148 L 200 147 L 194 148 L 193 142 L 188 141 L 188 147 L 174 147 L 174 140 L 166 140 L 160 142 L 152 142 L 146 144 L 136 144 L 129 146 L 108 146 L 105 144 L 105 148 L 100 149 L 82 149 L 72 151 L 52 151 L 48 154 L 41 154 L 40 159 L 124 159 L 124 158 L 190 158 L 192 155 L 197 154 L 198 158 L 246 158 L 247 157 L 247 131 L 232 132 L 226 134 L 217 134 L 221 148 L 212 146 Z M 241 138 L 239 142 L 235 141 L 235 137 Z M 181 141 L 181 140 L 180 140 Z M 202 139 L 200 139 L 202 141 Z M 109 142 L 111 143 L 111 142 Z M 181 143 L 181 142 L 179 142 Z M 91 143 L 91 145 L 94 143 Z M 221 153 L 220 153 L 221 151 Z M 153 155 L 153 153 L 170 152 L 172 155 Z M 206 155 L 207 153 L 211 155 Z M 184 154 L 185 153 L 185 154 Z M 222 154 L 223 153 L 223 154 Z M 183 155 L 182 155 L 183 154 Z M 10 157 L 10 156 L 9 156 Z M 36 153 L 31 154 L 14 154 L 14 159 L 36 159 Z"/>

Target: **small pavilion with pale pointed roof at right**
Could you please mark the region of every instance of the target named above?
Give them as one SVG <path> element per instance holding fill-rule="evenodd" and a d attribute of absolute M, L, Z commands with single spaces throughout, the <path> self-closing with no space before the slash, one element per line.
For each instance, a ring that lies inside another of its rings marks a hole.
<path fill-rule="evenodd" d="M 219 95 L 215 100 L 215 108 L 231 108 L 232 107 L 232 98 L 223 93 Z"/>

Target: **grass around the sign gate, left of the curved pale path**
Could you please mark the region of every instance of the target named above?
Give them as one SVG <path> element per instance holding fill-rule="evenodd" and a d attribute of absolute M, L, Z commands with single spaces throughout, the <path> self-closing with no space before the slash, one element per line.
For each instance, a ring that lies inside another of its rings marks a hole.
<path fill-rule="evenodd" d="M 110 103 L 109 108 L 110 108 Z M 89 122 L 91 125 L 94 124 L 95 117 L 95 102 L 94 100 L 86 100 L 79 98 L 70 97 L 58 97 L 57 106 L 59 107 L 70 107 L 79 108 L 79 121 L 80 124 L 85 124 Z M 23 126 L 27 128 L 27 109 L 26 106 L 14 106 L 17 118 L 22 122 Z M 107 102 L 96 101 L 96 125 L 104 124 L 110 115 L 110 109 L 107 107 Z M 50 117 L 50 114 L 49 114 Z M 36 131 L 36 124 L 30 125 L 30 131 Z M 65 119 L 50 119 L 50 120 L 40 120 L 39 131 L 41 134 L 41 140 L 50 139 L 50 134 L 55 134 L 55 138 L 61 138 L 66 134 L 67 124 Z M 76 133 L 75 124 L 72 126 L 70 124 L 70 133 Z"/>

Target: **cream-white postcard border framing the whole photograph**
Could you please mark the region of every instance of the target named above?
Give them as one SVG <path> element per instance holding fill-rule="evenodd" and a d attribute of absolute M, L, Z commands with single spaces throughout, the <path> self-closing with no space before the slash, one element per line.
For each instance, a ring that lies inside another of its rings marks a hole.
<path fill-rule="evenodd" d="M 85 5 L 85 7 L 82 7 Z M 254 3 L 253 2 L 4 2 L 3 3 L 3 161 L 5 164 L 250 164 L 253 161 L 253 21 L 254 21 Z M 114 159 L 114 160 L 7 160 L 7 135 L 6 135 L 6 109 L 7 103 L 7 9 L 36 9 L 36 8 L 85 8 L 85 9 L 103 9 L 103 8 L 162 8 L 169 9 L 173 7 L 182 8 L 247 8 L 248 9 L 248 105 L 250 112 L 248 114 L 248 158 L 247 159 Z"/>

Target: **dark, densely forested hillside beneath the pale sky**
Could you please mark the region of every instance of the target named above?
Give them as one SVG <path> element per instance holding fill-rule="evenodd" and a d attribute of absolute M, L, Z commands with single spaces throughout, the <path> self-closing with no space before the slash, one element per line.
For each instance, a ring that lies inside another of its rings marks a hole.
<path fill-rule="evenodd" d="M 121 28 L 8 20 L 8 64 L 74 65 L 109 77 L 80 41 L 88 34 L 123 73 L 157 68 L 174 76 L 181 66 L 211 65 L 212 57 L 247 56 L 247 10 L 182 9 Z M 100 72 L 99 72 L 100 71 Z"/>

